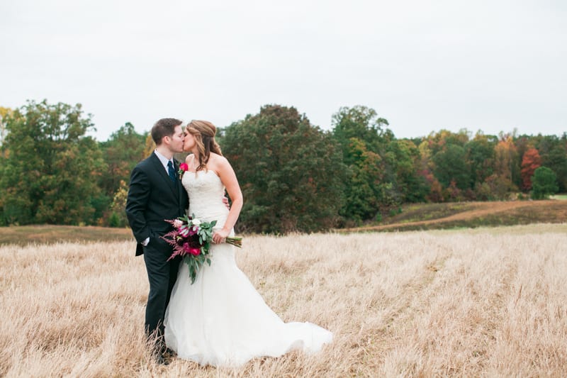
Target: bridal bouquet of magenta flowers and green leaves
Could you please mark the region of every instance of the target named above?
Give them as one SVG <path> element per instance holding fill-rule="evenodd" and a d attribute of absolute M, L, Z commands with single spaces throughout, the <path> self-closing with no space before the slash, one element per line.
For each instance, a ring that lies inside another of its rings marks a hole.
<path fill-rule="evenodd" d="M 208 253 L 210 243 L 213 241 L 213 227 L 217 221 L 202 222 L 191 216 L 181 216 L 177 219 L 166 219 L 167 223 L 171 223 L 174 229 L 163 235 L 161 238 L 173 246 L 172 255 L 167 261 L 174 257 L 184 257 L 184 262 L 189 267 L 189 277 L 191 284 L 197 278 L 198 270 L 206 262 L 210 266 L 210 258 Z M 242 247 L 242 238 L 226 238 L 226 243 Z"/>

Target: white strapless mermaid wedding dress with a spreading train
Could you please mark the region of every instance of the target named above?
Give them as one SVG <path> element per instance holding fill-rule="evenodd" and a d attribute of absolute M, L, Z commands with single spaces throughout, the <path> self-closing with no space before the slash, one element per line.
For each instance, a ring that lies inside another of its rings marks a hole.
<path fill-rule="evenodd" d="M 185 172 L 182 182 L 189 193 L 189 214 L 203 221 L 216 220 L 215 228 L 222 228 L 228 209 L 217 174 Z M 201 365 L 234 367 L 254 357 L 279 357 L 294 349 L 317 352 L 331 342 L 332 333 L 313 323 L 283 323 L 238 269 L 235 247 L 211 245 L 210 260 L 193 284 L 187 265 L 179 265 L 164 320 L 165 342 L 178 357 Z"/>

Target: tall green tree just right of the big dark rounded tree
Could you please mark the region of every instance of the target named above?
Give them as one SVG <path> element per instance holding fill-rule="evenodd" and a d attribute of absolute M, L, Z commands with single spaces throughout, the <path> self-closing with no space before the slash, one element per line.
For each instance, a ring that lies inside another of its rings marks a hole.
<path fill-rule="evenodd" d="M 379 211 L 398 206 L 408 190 L 415 189 L 412 186 L 419 179 L 414 180 L 417 166 L 412 164 L 412 152 L 408 145 L 398 144 L 386 128 L 388 121 L 379 118 L 374 109 L 343 107 L 332 116 L 332 125 L 349 167 L 341 211 L 345 218 L 357 222 L 374 218 Z"/>

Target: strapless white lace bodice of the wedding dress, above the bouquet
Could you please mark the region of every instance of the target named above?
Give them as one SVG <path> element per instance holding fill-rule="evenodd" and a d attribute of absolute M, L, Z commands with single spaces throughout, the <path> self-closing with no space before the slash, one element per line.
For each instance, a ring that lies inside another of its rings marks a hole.
<path fill-rule="evenodd" d="M 212 170 L 185 172 L 181 183 L 189 194 L 189 215 L 203 221 L 217 221 L 215 228 L 225 224 L 228 209 L 223 203 L 225 187 Z"/>

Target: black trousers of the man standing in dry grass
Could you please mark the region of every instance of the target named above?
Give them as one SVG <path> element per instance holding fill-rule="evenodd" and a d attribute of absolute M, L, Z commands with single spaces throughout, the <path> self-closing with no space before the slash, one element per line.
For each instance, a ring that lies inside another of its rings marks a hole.
<path fill-rule="evenodd" d="M 145 331 L 148 338 L 155 338 L 156 348 L 163 351 L 164 316 L 169 296 L 172 294 L 177 270 L 181 259 L 167 261 L 172 248 L 165 240 L 150 237 L 150 243 L 144 248 L 144 262 L 147 279 L 150 282 L 150 294 L 147 296 Z"/>

